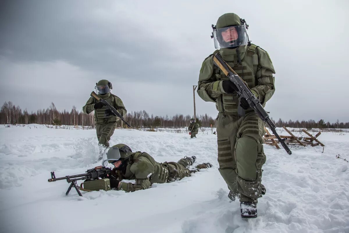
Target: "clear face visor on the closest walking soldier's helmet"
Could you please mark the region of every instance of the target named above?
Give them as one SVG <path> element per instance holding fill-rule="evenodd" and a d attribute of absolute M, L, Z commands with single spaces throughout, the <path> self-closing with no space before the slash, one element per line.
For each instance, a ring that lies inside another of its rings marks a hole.
<path fill-rule="evenodd" d="M 216 49 L 246 45 L 248 43 L 245 25 L 230 26 L 213 30 Z"/>

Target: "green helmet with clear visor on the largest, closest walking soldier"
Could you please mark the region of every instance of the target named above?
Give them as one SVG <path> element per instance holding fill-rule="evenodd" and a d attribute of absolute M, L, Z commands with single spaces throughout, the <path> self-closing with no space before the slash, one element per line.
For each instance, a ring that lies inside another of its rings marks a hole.
<path fill-rule="evenodd" d="M 249 44 L 247 29 L 248 25 L 244 19 L 237 14 L 226 13 L 220 16 L 216 26 L 212 24 L 215 48 L 236 48 L 237 46 Z"/>

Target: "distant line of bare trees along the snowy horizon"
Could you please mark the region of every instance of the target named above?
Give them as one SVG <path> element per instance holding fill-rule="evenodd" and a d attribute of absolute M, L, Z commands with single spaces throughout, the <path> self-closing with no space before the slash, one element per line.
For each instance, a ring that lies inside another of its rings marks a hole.
<path fill-rule="evenodd" d="M 145 110 L 142 111 L 131 111 L 124 117 L 132 128 L 177 128 L 185 127 L 190 123 L 191 115 L 176 114 L 169 117 L 166 116 L 155 116 L 153 114 L 149 115 Z M 216 120 L 212 117 L 205 115 L 197 116 L 198 123 L 202 127 L 213 127 L 216 126 Z M 277 127 L 292 127 L 292 128 L 333 128 L 333 129 L 348 129 L 349 122 L 339 122 L 337 120 L 334 123 L 325 122 L 324 119 L 319 121 L 308 120 L 308 121 L 279 121 L 275 122 Z M 20 106 L 15 106 L 11 101 L 5 102 L 0 110 L 0 124 L 46 124 L 46 125 L 82 125 L 95 127 L 95 117 L 94 112 L 90 114 L 83 114 L 82 111 L 76 109 L 75 106 L 72 107 L 70 111 L 63 110 L 58 111 L 52 102 L 49 108 L 39 109 L 36 112 L 31 111 L 30 113 L 27 109 L 22 110 Z M 118 122 L 118 126 L 121 126 L 121 121 Z M 125 126 L 125 125 L 122 125 Z"/>

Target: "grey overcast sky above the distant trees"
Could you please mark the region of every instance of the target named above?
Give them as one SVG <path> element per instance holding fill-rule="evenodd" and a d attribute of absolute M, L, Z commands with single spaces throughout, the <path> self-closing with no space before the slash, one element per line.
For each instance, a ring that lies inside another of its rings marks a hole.
<path fill-rule="evenodd" d="M 275 67 L 274 119 L 349 121 L 349 3 L 0 0 L 1 104 L 82 109 L 98 80 L 126 109 L 193 115 L 192 85 L 233 12 Z M 217 115 L 195 93 L 196 114 Z"/>

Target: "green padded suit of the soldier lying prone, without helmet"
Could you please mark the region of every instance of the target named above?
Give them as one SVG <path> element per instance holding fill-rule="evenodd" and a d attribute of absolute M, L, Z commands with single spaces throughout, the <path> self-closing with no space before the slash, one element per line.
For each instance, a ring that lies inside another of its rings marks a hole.
<path fill-rule="evenodd" d="M 120 180 L 118 190 L 134 192 L 137 190 L 148 189 L 153 183 L 168 183 L 181 180 L 184 177 L 191 176 L 192 172 L 207 168 L 207 164 L 199 164 L 194 170 L 187 167 L 193 164 L 192 158 L 183 158 L 178 162 L 159 163 L 146 152 L 132 153 L 124 172 L 113 169 Z M 122 180 L 135 180 L 136 183 L 123 182 Z"/>

